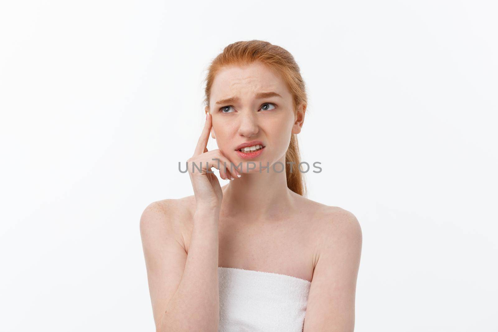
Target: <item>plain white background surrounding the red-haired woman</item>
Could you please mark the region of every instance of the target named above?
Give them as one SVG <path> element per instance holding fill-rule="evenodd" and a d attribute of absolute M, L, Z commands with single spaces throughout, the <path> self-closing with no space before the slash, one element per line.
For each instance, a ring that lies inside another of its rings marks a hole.
<path fill-rule="evenodd" d="M 497 331 L 494 1 L 5 2 L 1 331 L 154 331 L 139 218 L 192 194 L 205 70 L 250 39 L 301 68 L 308 198 L 362 226 L 355 331 Z"/>

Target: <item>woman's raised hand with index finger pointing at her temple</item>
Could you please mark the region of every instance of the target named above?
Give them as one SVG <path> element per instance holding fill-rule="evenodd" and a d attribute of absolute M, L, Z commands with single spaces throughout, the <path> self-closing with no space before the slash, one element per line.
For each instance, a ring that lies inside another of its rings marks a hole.
<path fill-rule="evenodd" d="M 195 152 L 192 157 L 187 160 L 187 169 L 190 181 L 192 182 L 192 187 L 194 188 L 197 207 L 220 208 L 223 200 L 223 192 L 221 190 L 220 182 L 216 175 L 211 172 L 211 168 L 217 168 L 220 171 L 221 178 L 224 180 L 234 180 L 240 173 L 233 167 L 235 176 L 232 176 L 228 169 L 228 167 L 230 167 L 230 160 L 222 154 L 220 149 L 208 151 L 206 146 L 208 144 L 212 125 L 212 117 L 208 112 Z M 224 163 L 227 165 L 227 168 L 225 168 Z M 208 169 L 210 173 L 207 172 Z"/>

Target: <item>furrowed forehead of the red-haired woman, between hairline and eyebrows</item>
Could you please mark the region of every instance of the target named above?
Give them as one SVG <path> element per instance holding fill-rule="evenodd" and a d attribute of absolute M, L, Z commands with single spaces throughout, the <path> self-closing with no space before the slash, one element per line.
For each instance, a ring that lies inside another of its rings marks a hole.
<path fill-rule="evenodd" d="M 224 98 L 251 97 L 255 93 L 268 91 L 290 98 L 285 81 L 262 63 L 230 66 L 216 75 L 211 88 L 211 100 L 216 102 Z"/>

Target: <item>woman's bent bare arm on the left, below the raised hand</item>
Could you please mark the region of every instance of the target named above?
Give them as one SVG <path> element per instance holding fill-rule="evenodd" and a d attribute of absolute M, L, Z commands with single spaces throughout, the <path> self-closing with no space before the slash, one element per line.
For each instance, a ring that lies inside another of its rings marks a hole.
<path fill-rule="evenodd" d="M 140 219 L 156 331 L 218 332 L 219 208 L 196 210 L 188 255 L 175 237 L 179 214 L 165 210 L 174 207 L 151 204 Z"/>

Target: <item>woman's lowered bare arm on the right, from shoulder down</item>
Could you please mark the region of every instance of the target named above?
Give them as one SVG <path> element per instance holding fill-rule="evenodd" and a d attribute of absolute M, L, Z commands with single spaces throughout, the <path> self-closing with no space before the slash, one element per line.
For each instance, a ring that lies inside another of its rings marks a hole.
<path fill-rule="evenodd" d="M 362 229 L 351 212 L 337 207 L 324 218 L 303 332 L 352 332 Z"/>

